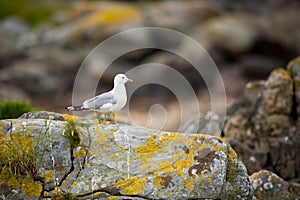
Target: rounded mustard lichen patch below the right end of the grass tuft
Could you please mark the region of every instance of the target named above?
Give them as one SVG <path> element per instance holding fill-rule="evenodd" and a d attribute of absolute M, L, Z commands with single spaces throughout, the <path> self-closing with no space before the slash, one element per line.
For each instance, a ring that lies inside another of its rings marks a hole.
<path fill-rule="evenodd" d="M 22 190 L 27 198 L 31 198 L 33 196 L 40 196 L 43 187 L 40 183 L 34 182 L 32 177 L 27 176 L 22 181 Z"/>

